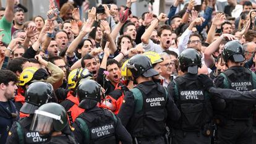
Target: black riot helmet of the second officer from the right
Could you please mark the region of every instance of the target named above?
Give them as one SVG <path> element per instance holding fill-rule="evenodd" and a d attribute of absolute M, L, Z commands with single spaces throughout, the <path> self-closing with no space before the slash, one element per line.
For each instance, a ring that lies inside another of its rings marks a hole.
<path fill-rule="evenodd" d="M 198 67 L 202 67 L 201 55 L 194 48 L 187 48 L 178 57 L 181 71 L 197 74 Z"/>

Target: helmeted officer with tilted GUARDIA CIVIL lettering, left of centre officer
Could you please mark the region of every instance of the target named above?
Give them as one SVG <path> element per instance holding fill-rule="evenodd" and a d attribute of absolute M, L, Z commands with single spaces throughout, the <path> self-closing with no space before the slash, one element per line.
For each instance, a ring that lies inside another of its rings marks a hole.
<path fill-rule="evenodd" d="M 101 101 L 101 87 L 93 80 L 82 80 L 77 88 L 79 107 L 85 112 L 75 119 L 74 135 L 79 143 L 132 143 L 132 138 L 114 114 L 97 105 Z"/>

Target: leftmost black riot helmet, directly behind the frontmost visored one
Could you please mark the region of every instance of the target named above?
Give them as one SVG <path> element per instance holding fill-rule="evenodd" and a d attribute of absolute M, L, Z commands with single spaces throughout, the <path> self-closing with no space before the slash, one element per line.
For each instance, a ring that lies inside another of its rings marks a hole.
<path fill-rule="evenodd" d="M 25 91 L 25 103 L 20 111 L 25 114 L 33 114 L 41 105 L 53 102 L 54 90 L 50 83 L 33 82 Z"/>

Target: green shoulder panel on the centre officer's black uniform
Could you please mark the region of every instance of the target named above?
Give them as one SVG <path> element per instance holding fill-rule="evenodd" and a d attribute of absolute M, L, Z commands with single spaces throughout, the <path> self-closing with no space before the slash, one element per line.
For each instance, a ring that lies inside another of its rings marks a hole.
<path fill-rule="evenodd" d="M 143 98 L 142 98 L 142 92 L 139 90 L 139 88 L 132 88 L 132 93 L 134 94 L 134 100 L 135 100 L 135 112 L 139 112 L 142 110 L 143 106 Z"/>

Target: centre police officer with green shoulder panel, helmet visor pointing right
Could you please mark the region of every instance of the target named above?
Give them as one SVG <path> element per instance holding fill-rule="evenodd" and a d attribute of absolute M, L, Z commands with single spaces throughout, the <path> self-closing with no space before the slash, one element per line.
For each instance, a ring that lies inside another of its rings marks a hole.
<path fill-rule="evenodd" d="M 138 85 L 127 91 L 118 116 L 133 143 L 164 143 L 166 122 L 179 119 L 179 109 L 165 88 L 153 82 L 159 73 L 147 56 L 135 55 L 126 66 Z"/>

